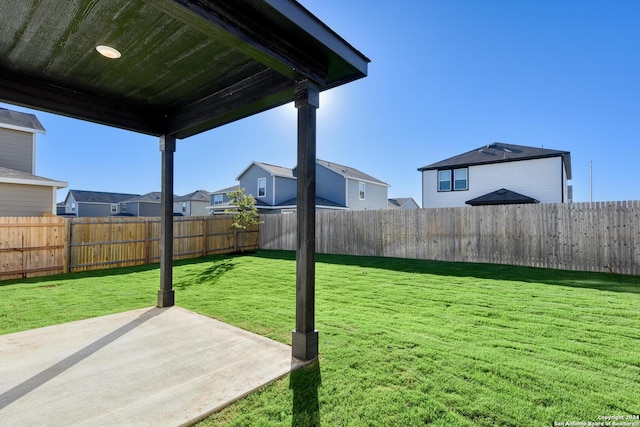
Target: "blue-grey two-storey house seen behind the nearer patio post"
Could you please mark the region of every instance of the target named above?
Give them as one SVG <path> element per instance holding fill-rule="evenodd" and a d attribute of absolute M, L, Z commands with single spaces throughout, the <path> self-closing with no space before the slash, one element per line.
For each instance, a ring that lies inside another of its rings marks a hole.
<path fill-rule="evenodd" d="M 261 213 L 293 212 L 297 207 L 297 168 L 252 162 L 236 178 L 256 199 Z M 358 169 L 316 161 L 316 210 L 386 209 L 389 184 Z M 215 197 L 217 192 L 213 193 Z M 218 198 L 220 203 L 224 199 Z M 212 207 L 215 208 L 213 203 Z"/>

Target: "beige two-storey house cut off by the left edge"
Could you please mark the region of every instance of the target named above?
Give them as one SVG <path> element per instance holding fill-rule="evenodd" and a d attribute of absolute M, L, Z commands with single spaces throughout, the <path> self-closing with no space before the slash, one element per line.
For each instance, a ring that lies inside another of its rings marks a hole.
<path fill-rule="evenodd" d="M 36 135 L 44 133 L 33 114 L 0 108 L 0 216 L 56 213 L 67 183 L 35 175 Z"/>

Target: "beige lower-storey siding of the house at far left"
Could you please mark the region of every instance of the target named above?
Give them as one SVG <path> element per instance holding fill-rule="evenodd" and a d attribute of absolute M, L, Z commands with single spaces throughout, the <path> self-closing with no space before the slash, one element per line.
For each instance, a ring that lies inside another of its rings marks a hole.
<path fill-rule="evenodd" d="M 0 183 L 0 216 L 55 214 L 53 187 Z"/>

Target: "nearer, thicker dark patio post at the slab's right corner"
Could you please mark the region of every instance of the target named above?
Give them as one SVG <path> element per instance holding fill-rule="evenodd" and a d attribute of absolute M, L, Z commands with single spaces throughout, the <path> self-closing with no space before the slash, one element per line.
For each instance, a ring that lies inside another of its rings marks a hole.
<path fill-rule="evenodd" d="M 315 330 L 316 262 L 316 109 L 318 86 L 302 80 L 295 84 L 298 109 L 298 242 L 296 248 L 296 329 L 292 355 L 300 360 L 318 357 Z"/>

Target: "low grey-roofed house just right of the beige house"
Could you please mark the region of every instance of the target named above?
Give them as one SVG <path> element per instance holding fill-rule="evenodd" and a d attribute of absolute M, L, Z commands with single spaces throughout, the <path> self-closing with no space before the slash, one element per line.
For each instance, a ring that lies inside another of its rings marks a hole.
<path fill-rule="evenodd" d="M 69 190 L 64 199 L 65 215 L 112 216 L 122 213 L 124 202 L 140 196 L 139 194 L 106 193 L 102 191 Z M 126 208 L 125 208 L 126 212 Z"/>

